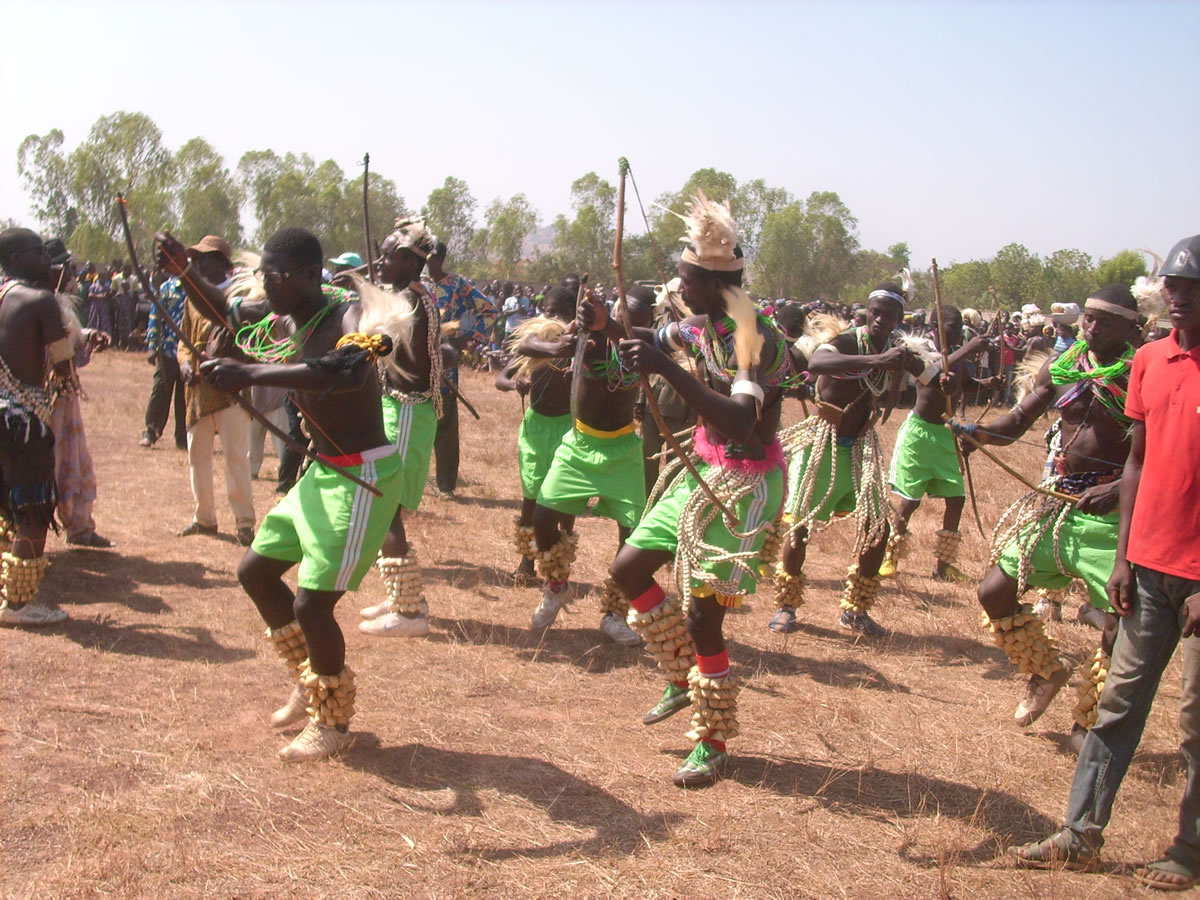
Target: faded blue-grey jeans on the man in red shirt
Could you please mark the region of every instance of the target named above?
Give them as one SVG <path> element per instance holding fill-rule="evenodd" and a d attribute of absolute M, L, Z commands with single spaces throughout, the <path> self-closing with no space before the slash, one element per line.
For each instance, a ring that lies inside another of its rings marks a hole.
<path fill-rule="evenodd" d="M 1099 715 L 1075 764 L 1064 830 L 1099 851 L 1112 800 L 1141 742 L 1158 682 L 1187 620 L 1183 601 L 1200 593 L 1200 581 L 1135 568 L 1133 612 L 1121 619 L 1112 665 L 1100 694 Z M 1200 868 L 1200 636 L 1183 641 L 1180 700 L 1181 749 L 1188 780 L 1180 803 L 1180 832 L 1168 851 L 1189 869 Z"/>

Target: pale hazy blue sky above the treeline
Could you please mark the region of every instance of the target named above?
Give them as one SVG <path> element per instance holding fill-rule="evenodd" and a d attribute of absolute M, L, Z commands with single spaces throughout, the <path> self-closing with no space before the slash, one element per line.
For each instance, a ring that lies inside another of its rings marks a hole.
<path fill-rule="evenodd" d="M 914 265 L 1200 232 L 1198 0 L 0 0 L 0 218 L 29 224 L 20 140 L 70 149 L 127 110 L 230 167 L 272 149 L 353 175 L 370 151 L 410 206 L 454 175 L 542 224 L 626 156 L 646 199 L 703 167 L 835 191 L 863 247 Z"/>

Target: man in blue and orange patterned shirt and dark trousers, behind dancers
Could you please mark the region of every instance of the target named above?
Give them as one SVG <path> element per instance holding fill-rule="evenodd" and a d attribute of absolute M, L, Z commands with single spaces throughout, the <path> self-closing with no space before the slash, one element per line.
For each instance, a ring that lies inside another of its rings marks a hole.
<path fill-rule="evenodd" d="M 446 245 L 438 241 L 425 265 L 433 282 L 433 298 L 442 322 L 458 323 L 458 334 L 445 338 L 457 358 L 458 352 L 475 338 L 487 343 L 499 312 L 469 278 L 448 272 L 445 262 Z M 457 366 L 444 368 L 442 374 L 451 384 L 458 384 Z M 433 438 L 433 460 L 438 493 L 443 499 L 452 499 L 458 486 L 458 404 L 445 385 L 442 385 L 442 418 Z"/>

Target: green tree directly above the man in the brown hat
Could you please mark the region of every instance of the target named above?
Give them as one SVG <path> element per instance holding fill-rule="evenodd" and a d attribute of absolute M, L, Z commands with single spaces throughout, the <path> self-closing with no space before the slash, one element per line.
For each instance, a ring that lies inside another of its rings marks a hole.
<path fill-rule="evenodd" d="M 179 233 L 187 240 L 218 234 L 233 246 L 242 242 L 240 210 L 245 191 L 224 160 L 203 138 L 192 138 L 175 154 L 179 173 Z"/>

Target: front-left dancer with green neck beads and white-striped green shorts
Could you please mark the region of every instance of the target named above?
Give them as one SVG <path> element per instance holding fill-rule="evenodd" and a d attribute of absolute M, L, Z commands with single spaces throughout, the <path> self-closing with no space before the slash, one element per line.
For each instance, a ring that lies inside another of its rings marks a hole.
<path fill-rule="evenodd" d="M 268 637 L 295 684 L 271 718 L 283 727 L 307 719 L 280 751 L 289 762 L 323 760 L 350 743 L 354 672 L 334 607 L 358 588 L 400 503 L 402 463 L 384 437 L 373 355 L 335 346 L 360 331 L 360 308 L 348 294 L 322 284 L 320 241 L 284 228 L 266 241 L 260 272 L 265 300 L 228 304 L 221 288 L 191 265 L 182 245 L 157 235 L 158 264 L 180 276 L 188 301 L 216 324 L 238 330 L 238 347 L 256 364 L 218 356 L 200 366 L 214 386 L 240 391 L 253 384 L 286 388 L 312 428 L 317 452 L 373 485 L 372 494 L 313 463 L 268 515 L 238 566 L 238 578 L 268 625 Z M 185 269 L 184 266 L 187 265 Z M 298 566 L 298 589 L 283 574 Z"/>

